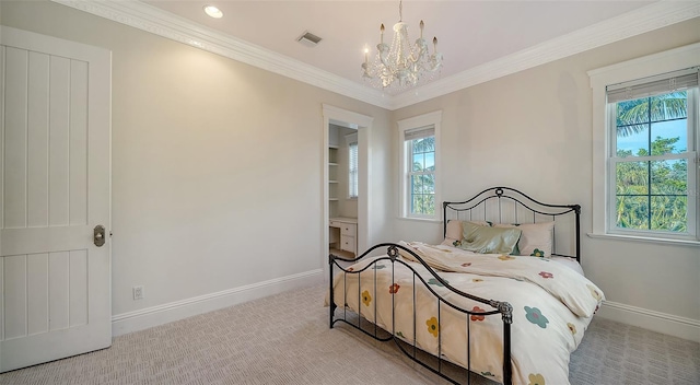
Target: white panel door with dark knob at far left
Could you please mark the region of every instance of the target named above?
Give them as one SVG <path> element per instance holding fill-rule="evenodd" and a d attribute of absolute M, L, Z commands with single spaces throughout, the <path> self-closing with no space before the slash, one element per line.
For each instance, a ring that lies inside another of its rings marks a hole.
<path fill-rule="evenodd" d="M 0 28 L 5 372 L 112 345 L 112 57 L 101 48 Z M 97 225 L 107 234 L 100 247 Z"/>

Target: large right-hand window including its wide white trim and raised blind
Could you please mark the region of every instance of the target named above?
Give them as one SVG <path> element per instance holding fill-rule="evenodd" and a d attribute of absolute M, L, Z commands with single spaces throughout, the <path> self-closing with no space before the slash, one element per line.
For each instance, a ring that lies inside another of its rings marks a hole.
<path fill-rule="evenodd" d="M 700 240 L 699 67 L 672 70 L 688 62 L 677 52 L 590 72 L 594 119 L 598 110 L 604 122 L 598 129 L 594 122 L 594 170 L 600 171 L 594 172 L 594 235 Z M 639 78 L 614 81 L 627 73 Z"/>

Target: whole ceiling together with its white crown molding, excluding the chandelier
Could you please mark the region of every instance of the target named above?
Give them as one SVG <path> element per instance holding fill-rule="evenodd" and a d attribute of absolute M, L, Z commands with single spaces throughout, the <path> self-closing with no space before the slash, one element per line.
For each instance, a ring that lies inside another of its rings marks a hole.
<path fill-rule="evenodd" d="M 396 109 L 480 82 L 700 16 L 700 1 L 406 0 L 416 39 L 436 36 L 438 79 L 406 92 L 363 82 L 364 48 L 399 19 L 399 1 L 51 0 L 384 108 Z M 211 19 L 206 4 L 224 16 Z M 315 47 L 296 42 L 311 32 Z"/>

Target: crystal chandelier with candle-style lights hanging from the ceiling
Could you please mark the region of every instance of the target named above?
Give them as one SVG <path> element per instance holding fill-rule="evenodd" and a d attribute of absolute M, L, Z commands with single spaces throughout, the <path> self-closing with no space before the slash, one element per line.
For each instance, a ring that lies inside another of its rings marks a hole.
<path fill-rule="evenodd" d="M 394 24 L 394 39 L 389 47 L 384 43 L 384 24 L 380 27 L 377 54 L 370 62 L 370 49 L 364 49 L 362 78 L 374 86 L 394 86 L 397 90 L 416 86 L 432 79 L 442 67 L 442 54 L 438 52 L 438 38 L 433 37 L 433 54 L 428 51 L 423 38 L 423 21 L 420 21 L 420 37 L 411 46 L 408 24 L 402 21 L 402 1 L 398 4 L 398 23 Z"/>

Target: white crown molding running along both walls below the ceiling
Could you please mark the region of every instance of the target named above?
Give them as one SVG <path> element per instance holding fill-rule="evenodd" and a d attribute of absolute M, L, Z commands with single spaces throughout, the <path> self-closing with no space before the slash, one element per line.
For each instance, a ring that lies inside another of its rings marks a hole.
<path fill-rule="evenodd" d="M 389 95 L 140 1 L 51 1 L 389 110 L 700 16 L 698 1 L 658 1 L 415 90 Z"/>

